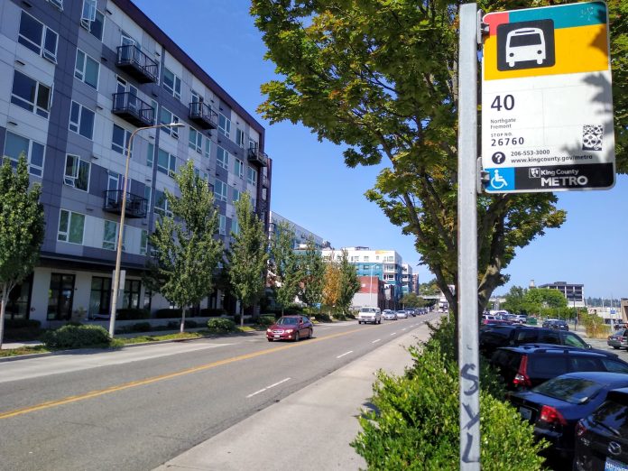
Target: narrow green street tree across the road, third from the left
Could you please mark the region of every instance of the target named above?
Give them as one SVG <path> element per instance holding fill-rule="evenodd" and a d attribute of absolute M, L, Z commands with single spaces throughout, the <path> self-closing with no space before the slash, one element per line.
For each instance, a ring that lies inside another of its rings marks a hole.
<path fill-rule="evenodd" d="M 235 202 L 235 217 L 237 230 L 231 233 L 233 240 L 226 254 L 226 270 L 232 292 L 240 301 L 240 326 L 244 326 L 244 309 L 254 306 L 265 289 L 268 239 L 263 221 L 254 213 L 248 193 L 240 195 Z"/>

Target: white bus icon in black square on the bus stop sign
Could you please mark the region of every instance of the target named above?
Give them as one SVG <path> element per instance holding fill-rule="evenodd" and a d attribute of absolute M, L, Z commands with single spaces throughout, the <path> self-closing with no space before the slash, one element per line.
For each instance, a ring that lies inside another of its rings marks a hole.
<path fill-rule="evenodd" d="M 556 63 L 554 21 L 502 23 L 497 26 L 497 69 L 552 67 Z"/>

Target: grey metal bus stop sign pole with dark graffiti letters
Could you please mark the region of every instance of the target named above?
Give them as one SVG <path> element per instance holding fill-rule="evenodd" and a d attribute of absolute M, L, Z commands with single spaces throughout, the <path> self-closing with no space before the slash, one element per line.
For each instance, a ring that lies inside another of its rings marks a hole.
<path fill-rule="evenodd" d="M 460 469 L 480 469 L 477 319 L 477 6 L 460 5 L 458 44 L 458 367 Z"/>

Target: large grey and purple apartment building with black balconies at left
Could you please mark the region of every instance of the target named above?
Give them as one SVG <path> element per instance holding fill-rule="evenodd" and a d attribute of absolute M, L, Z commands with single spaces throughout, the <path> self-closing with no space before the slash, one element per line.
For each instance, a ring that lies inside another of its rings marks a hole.
<path fill-rule="evenodd" d="M 185 162 L 214 191 L 226 245 L 244 192 L 268 230 L 263 126 L 131 1 L 4 0 L 0 40 L 0 146 L 11 162 L 26 155 L 46 221 L 41 261 L 12 292 L 8 319 L 108 314 L 125 157 L 139 127 L 184 125 L 134 137 L 121 307 L 169 306 L 142 273 L 155 219 L 171 214 L 164 191 L 177 193 L 172 176 Z"/>

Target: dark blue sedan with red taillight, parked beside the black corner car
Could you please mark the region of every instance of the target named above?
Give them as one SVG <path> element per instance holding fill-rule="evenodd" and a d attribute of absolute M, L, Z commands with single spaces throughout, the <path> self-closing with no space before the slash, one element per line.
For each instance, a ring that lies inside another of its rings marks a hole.
<path fill-rule="evenodd" d="M 562 374 L 530 391 L 511 394 L 510 401 L 534 426 L 534 436 L 550 442 L 550 456 L 574 457 L 578 420 L 595 411 L 609 391 L 628 387 L 628 374 L 578 372 Z"/>

